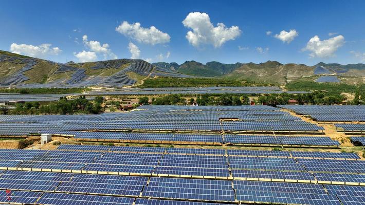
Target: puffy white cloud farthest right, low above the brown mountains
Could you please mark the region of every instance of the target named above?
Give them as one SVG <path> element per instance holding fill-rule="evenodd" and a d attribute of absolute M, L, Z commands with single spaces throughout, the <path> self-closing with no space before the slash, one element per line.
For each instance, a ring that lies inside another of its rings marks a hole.
<path fill-rule="evenodd" d="M 321 41 L 318 35 L 315 35 L 310 39 L 303 51 L 311 51 L 309 56 L 325 58 L 333 57 L 334 53 L 344 44 L 345 38 L 342 35 L 335 36 L 333 38 Z"/>

